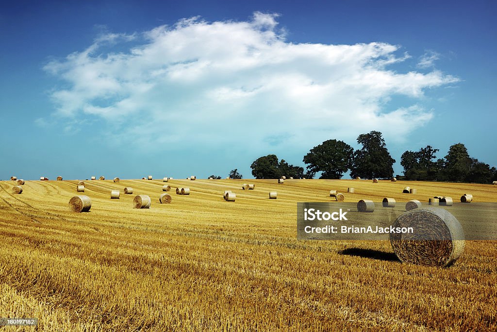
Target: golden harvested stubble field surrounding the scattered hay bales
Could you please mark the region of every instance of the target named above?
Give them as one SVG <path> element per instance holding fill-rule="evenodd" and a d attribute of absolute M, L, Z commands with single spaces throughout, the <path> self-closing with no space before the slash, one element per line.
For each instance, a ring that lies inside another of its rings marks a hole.
<path fill-rule="evenodd" d="M 331 189 L 347 202 L 497 202 L 496 186 L 174 179 L 163 205 L 162 180 L 85 183 L 76 193 L 77 181 L 26 181 L 14 195 L 13 181 L 0 182 L 0 317 L 39 319 L 18 331 L 497 330 L 497 241 L 466 241 L 441 269 L 400 263 L 389 241 L 296 239 L 296 203 L 331 201 Z M 91 198 L 89 213 L 69 211 L 78 194 Z M 151 208 L 133 209 L 142 194 Z"/>

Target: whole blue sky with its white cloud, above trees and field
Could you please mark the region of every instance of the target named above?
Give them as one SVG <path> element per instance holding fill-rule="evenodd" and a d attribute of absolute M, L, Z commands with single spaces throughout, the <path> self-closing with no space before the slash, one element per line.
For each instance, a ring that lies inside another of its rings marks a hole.
<path fill-rule="evenodd" d="M 495 1 L 19 1 L 0 7 L 0 179 L 304 166 L 383 132 L 497 166 Z"/>

